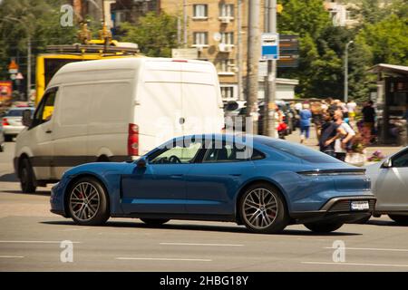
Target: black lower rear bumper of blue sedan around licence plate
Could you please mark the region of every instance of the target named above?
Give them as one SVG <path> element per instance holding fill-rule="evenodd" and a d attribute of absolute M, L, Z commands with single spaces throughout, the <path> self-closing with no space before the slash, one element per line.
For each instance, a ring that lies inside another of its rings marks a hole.
<path fill-rule="evenodd" d="M 369 208 L 364 210 L 352 210 L 352 201 L 368 201 Z M 292 212 L 290 217 L 296 223 L 310 222 L 343 222 L 351 223 L 358 219 L 369 217 L 374 212 L 376 198 L 374 196 L 331 198 L 325 205 L 316 211 Z"/>

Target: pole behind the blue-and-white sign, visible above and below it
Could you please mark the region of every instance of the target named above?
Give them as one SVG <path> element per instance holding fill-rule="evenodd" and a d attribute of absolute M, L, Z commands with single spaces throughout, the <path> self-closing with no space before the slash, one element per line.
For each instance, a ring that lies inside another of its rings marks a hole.
<path fill-rule="evenodd" d="M 267 5 L 267 27 L 268 33 L 277 33 L 277 0 L 266 0 Z M 267 77 L 265 78 L 265 111 L 264 132 L 265 135 L 276 137 L 275 126 L 275 100 L 277 94 L 277 60 L 267 60 Z"/>

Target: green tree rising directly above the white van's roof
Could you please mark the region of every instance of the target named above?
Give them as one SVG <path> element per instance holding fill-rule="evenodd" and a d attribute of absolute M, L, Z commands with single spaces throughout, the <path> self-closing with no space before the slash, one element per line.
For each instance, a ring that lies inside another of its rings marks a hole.
<path fill-rule="evenodd" d="M 155 57 L 170 57 L 177 43 L 177 17 L 154 12 L 141 17 L 136 25 L 121 24 L 123 42 L 138 43 L 141 53 Z"/>

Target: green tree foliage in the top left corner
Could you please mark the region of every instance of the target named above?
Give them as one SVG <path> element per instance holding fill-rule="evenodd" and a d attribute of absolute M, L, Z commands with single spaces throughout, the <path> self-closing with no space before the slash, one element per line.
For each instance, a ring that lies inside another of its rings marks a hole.
<path fill-rule="evenodd" d="M 0 4 L 0 78 L 9 78 L 7 65 L 11 57 L 19 56 L 20 71 L 25 73 L 28 36 L 33 63 L 35 55 L 44 53 L 46 45 L 76 42 L 78 28 L 60 24 L 63 4 L 66 1 L 4 0 Z"/>

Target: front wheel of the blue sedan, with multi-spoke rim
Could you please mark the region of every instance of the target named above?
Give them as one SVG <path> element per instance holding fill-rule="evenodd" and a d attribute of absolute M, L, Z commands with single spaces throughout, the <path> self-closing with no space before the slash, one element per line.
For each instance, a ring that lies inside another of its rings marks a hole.
<path fill-rule="evenodd" d="M 96 179 L 75 181 L 65 200 L 70 217 L 78 225 L 101 226 L 110 218 L 107 192 Z"/>

